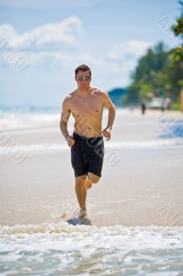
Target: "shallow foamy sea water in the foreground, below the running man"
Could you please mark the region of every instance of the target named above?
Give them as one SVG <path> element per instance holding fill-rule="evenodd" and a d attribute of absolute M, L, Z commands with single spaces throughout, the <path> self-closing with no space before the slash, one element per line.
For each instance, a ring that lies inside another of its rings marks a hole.
<path fill-rule="evenodd" d="M 0 275 L 183 275 L 183 227 L 1 226 Z"/>

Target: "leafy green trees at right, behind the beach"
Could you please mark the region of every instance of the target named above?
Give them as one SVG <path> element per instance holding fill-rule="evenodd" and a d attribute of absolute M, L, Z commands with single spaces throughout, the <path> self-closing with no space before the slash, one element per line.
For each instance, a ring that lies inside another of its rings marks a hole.
<path fill-rule="evenodd" d="M 177 19 L 172 31 L 176 37 L 183 40 L 183 1 L 181 17 Z M 180 89 L 183 88 L 183 44 L 177 48 L 166 50 L 162 42 L 154 48 L 149 48 L 146 55 L 138 61 L 138 66 L 131 75 L 132 83 L 128 93 L 122 98 L 123 103 L 138 104 L 147 100 L 153 91 L 163 91 L 164 97 L 171 96 L 178 101 Z M 177 108 L 175 103 L 175 108 Z"/>

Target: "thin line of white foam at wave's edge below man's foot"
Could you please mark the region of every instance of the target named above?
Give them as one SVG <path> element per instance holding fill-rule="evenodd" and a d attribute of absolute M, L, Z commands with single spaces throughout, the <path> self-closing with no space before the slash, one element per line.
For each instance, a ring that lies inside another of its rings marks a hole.
<path fill-rule="evenodd" d="M 16 224 L 14 226 L 0 226 L 0 235 L 18 235 L 28 234 L 34 235 L 37 233 L 85 233 L 85 237 L 92 237 L 94 233 L 102 230 L 105 235 L 129 235 L 136 236 L 138 233 L 163 233 L 164 237 L 171 235 L 180 235 L 183 242 L 183 226 L 96 226 L 96 225 L 76 225 L 68 224 L 66 221 L 56 223 L 42 224 Z M 178 242 L 179 244 L 180 242 Z M 182 244 L 183 246 L 183 244 Z"/>

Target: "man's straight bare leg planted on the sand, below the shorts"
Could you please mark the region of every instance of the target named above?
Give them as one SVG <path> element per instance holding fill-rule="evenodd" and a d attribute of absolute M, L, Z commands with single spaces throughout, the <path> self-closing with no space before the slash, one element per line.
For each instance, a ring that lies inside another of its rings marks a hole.
<path fill-rule="evenodd" d="M 75 191 L 76 197 L 78 199 L 78 204 L 80 206 L 80 219 L 87 216 L 86 198 L 87 198 L 87 188 L 85 186 L 86 175 L 81 175 L 80 177 L 75 177 Z"/>

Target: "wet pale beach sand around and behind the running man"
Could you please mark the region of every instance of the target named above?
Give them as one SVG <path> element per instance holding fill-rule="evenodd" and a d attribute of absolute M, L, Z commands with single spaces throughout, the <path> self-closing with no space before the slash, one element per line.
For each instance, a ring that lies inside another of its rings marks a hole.
<path fill-rule="evenodd" d="M 183 225 L 183 145 L 180 137 L 160 124 L 160 115 L 160 111 L 147 110 L 143 116 L 140 110 L 118 110 L 111 140 L 105 141 L 102 177 L 87 192 L 92 224 Z M 180 112 L 171 115 L 183 121 Z M 106 121 L 107 116 L 103 127 Z M 72 131 L 72 126 L 69 129 Z M 1 226 L 76 217 L 74 171 L 70 149 L 59 129 L 59 116 L 47 126 L 6 133 L 26 152 L 26 158 L 17 164 L 6 151 L 1 152 Z M 115 152 L 116 164 L 111 152 Z"/>

